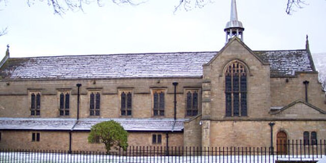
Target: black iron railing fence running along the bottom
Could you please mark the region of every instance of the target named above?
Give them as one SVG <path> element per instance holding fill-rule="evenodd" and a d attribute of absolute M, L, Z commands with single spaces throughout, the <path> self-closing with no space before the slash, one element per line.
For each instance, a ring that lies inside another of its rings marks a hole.
<path fill-rule="evenodd" d="M 325 140 L 277 142 L 276 147 L 133 147 L 106 152 L 0 150 L 2 162 L 316 162 L 326 155 Z"/>

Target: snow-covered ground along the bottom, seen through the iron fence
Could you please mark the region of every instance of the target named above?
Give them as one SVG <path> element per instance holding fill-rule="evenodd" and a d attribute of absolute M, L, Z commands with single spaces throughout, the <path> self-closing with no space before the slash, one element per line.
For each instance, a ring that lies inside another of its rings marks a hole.
<path fill-rule="evenodd" d="M 0 162 L 171 162 L 171 163 L 209 163 L 209 162 L 257 162 L 271 163 L 275 160 L 320 160 L 324 155 L 210 155 L 210 156 L 114 156 L 105 154 L 68 154 L 38 152 L 0 152 Z"/>

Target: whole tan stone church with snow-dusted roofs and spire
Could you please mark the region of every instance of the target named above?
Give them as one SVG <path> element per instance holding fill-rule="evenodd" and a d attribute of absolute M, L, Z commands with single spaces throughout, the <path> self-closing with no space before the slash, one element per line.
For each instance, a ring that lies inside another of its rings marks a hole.
<path fill-rule="evenodd" d="M 104 151 L 115 120 L 130 146 L 275 147 L 326 139 L 309 50 L 251 50 L 235 0 L 220 51 L 11 58 L 0 62 L 0 149 Z M 254 141 L 253 141 L 254 140 Z"/>

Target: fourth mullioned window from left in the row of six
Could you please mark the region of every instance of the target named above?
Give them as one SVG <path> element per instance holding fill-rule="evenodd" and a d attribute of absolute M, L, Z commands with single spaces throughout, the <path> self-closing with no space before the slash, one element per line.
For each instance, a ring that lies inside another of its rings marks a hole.
<path fill-rule="evenodd" d="M 120 95 L 121 101 L 121 116 L 131 116 L 132 110 L 132 93 L 131 91 L 122 91 Z"/>

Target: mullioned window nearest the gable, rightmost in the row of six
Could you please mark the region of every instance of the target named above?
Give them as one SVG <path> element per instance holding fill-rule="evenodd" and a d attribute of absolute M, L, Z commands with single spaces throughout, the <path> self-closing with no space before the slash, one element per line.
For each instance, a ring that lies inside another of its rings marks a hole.
<path fill-rule="evenodd" d="M 186 92 L 186 116 L 196 116 L 198 114 L 198 90 Z"/>

